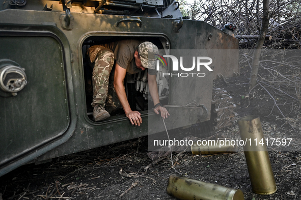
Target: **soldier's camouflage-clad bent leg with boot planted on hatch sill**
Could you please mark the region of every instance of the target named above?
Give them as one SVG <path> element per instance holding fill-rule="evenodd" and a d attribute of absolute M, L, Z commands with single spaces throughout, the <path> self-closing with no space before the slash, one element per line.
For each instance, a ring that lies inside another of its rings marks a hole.
<path fill-rule="evenodd" d="M 114 53 L 110 49 L 101 48 L 96 56 L 93 68 L 93 117 L 95 121 L 104 120 L 110 114 L 104 109 L 108 91 L 108 78 L 114 65 Z"/>

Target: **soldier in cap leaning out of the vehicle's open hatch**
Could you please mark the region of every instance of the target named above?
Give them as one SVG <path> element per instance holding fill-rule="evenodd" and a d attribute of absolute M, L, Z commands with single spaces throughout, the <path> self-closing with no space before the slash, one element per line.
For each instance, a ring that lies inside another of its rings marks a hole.
<path fill-rule="evenodd" d="M 167 109 L 162 107 L 159 101 L 155 70 L 156 61 L 153 56 L 156 53 L 158 53 L 158 47 L 153 43 L 138 40 L 121 40 L 110 44 L 95 45 L 88 49 L 87 54 L 90 56 L 90 61 L 95 63 L 92 75 L 92 106 L 95 121 L 110 117 L 110 113 L 104 109 L 105 103 L 110 104 L 107 107 L 117 108 L 120 102 L 131 124 L 140 126 L 142 123 L 141 113 L 130 108 L 124 89 L 124 78 L 126 73 L 134 74 L 146 69 L 148 69 L 149 91 L 155 106 L 154 112 L 157 114 L 160 112 L 164 119 L 169 116 Z M 149 59 L 151 57 L 152 59 Z M 112 70 L 114 60 L 116 60 L 115 70 Z M 119 102 L 113 100 L 114 94 L 108 94 L 108 80 L 111 71 L 111 75 L 114 75 L 112 90 L 116 92 Z"/>

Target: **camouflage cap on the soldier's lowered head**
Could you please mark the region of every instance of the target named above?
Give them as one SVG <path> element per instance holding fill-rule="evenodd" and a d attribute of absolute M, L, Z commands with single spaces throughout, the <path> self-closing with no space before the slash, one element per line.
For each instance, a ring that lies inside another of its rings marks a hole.
<path fill-rule="evenodd" d="M 155 69 L 156 58 L 155 54 L 159 49 L 151 42 L 143 42 L 138 46 L 138 53 L 140 55 L 141 64 L 145 68 Z"/>

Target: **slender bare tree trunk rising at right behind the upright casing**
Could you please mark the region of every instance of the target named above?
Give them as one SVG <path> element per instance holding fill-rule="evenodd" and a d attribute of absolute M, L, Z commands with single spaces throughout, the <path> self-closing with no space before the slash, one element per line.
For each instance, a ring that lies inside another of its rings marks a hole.
<path fill-rule="evenodd" d="M 262 50 L 262 46 L 264 43 L 265 35 L 267 33 L 268 22 L 269 22 L 269 0 L 263 0 L 263 18 L 262 18 L 262 26 L 259 34 L 259 38 L 256 44 L 254 58 L 252 62 L 252 72 L 251 72 L 251 80 L 249 91 L 252 90 L 256 85 L 257 72 L 259 67 L 259 58 Z"/>

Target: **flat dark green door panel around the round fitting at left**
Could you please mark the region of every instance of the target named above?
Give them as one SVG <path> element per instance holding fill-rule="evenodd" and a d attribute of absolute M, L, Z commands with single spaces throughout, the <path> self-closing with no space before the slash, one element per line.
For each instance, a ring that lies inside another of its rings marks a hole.
<path fill-rule="evenodd" d="M 63 134 L 70 123 L 62 47 L 52 37 L 0 37 L 2 58 L 25 68 L 28 83 L 15 97 L 2 98 L 0 140 L 3 162 Z M 3 48 L 6 47 L 6 48 Z M 1 164 L 2 164 L 1 162 Z"/>

